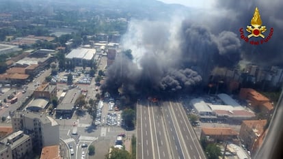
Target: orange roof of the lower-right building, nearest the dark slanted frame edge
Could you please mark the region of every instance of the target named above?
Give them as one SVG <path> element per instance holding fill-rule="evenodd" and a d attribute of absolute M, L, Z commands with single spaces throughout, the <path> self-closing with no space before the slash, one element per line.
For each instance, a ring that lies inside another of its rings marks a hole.
<path fill-rule="evenodd" d="M 256 136 L 260 136 L 267 124 L 267 120 L 244 120 L 243 124 L 248 128 L 251 128 Z"/>

